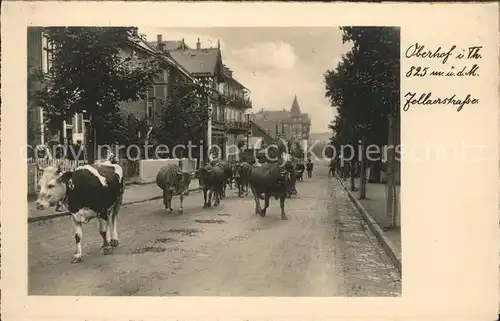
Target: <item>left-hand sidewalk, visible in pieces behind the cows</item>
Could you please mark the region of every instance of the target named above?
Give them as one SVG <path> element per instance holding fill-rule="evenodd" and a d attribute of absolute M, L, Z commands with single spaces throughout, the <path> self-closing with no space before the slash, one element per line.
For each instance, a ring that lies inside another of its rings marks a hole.
<path fill-rule="evenodd" d="M 197 190 L 199 187 L 198 180 L 193 179 L 189 185 L 189 190 Z M 123 205 L 161 199 L 163 197 L 162 195 L 163 193 L 161 189 L 156 186 L 156 183 L 126 185 L 125 192 L 123 194 Z M 54 208 L 39 211 L 36 209 L 35 200 L 28 201 L 28 223 L 48 220 L 65 215 L 67 215 L 66 209 L 63 212 L 56 212 Z"/>

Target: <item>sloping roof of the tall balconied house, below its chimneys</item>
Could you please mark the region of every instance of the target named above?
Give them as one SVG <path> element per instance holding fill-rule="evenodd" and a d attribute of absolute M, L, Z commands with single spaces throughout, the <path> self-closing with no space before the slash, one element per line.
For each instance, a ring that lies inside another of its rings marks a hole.
<path fill-rule="evenodd" d="M 220 51 L 218 48 L 175 50 L 170 55 L 193 76 L 213 76 Z"/>

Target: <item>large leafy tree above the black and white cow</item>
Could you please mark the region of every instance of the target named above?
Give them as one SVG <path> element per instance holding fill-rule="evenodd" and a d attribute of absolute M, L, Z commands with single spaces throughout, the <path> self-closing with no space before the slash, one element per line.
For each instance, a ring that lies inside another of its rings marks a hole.
<path fill-rule="evenodd" d="M 123 48 L 139 37 L 136 28 L 50 27 L 44 33 L 54 44 L 50 78 L 38 93 L 40 106 L 48 115 L 47 125 L 58 128 L 63 120 L 86 111 L 90 116 L 88 141 L 95 145 L 107 140 L 101 135 L 109 131 L 109 118 L 117 117 L 121 101 L 145 98 L 161 70 L 159 61 L 156 57 L 124 57 Z M 94 162 L 92 145 L 87 148 L 89 163 Z"/>

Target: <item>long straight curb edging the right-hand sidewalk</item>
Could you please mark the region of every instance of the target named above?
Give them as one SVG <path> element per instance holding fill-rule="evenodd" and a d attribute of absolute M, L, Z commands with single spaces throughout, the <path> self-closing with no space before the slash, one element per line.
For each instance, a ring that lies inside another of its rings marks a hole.
<path fill-rule="evenodd" d="M 365 221 L 368 223 L 368 226 L 372 230 L 373 234 L 377 237 L 379 243 L 382 245 L 384 248 L 385 252 L 391 259 L 392 263 L 398 269 L 399 274 L 401 275 L 402 272 L 402 267 L 401 267 L 401 253 L 400 251 L 397 250 L 396 246 L 392 241 L 385 235 L 384 231 L 378 225 L 377 221 L 368 213 L 368 211 L 364 208 L 364 206 L 359 202 L 359 200 L 352 194 L 352 192 L 349 190 L 349 188 L 344 185 L 344 182 L 342 182 L 341 179 L 339 179 L 337 176 L 335 177 L 339 182 L 342 188 L 346 191 L 347 195 L 349 196 L 349 199 L 351 202 L 354 204 L 354 206 L 357 208 L 357 210 L 361 213 Z"/>

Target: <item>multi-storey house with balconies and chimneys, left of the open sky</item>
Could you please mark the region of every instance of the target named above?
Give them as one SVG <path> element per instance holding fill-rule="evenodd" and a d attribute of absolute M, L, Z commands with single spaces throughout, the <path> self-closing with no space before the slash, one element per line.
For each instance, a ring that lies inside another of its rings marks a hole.
<path fill-rule="evenodd" d="M 249 90 L 223 64 L 220 42 L 216 48 L 202 48 L 198 39 L 196 48 L 190 48 L 184 39 L 164 41 L 162 35 L 158 35 L 156 43 L 148 44 L 168 52 L 199 83 L 211 89 L 212 114 L 210 124 L 207 124 L 207 137 L 212 145 L 220 146 L 224 153 L 226 146 L 235 146 L 245 139 L 249 133 L 245 110 L 252 107 Z"/>

